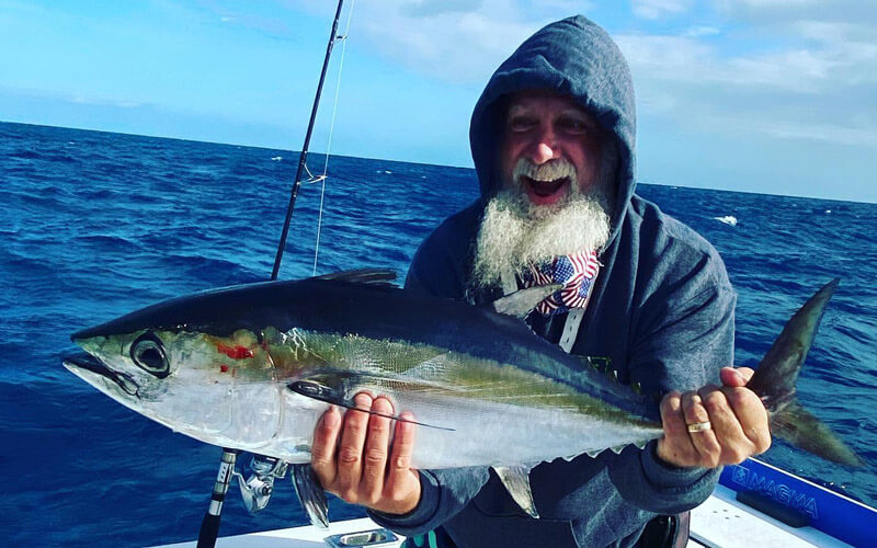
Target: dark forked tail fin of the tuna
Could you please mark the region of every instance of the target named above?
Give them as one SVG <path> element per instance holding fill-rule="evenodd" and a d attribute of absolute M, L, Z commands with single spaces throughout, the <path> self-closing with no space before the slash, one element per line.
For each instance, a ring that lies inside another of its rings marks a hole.
<path fill-rule="evenodd" d="M 827 460 L 863 466 L 862 459 L 831 429 L 804 409 L 795 396 L 798 374 L 838 283 L 834 278 L 825 284 L 795 312 L 747 388 L 761 397 L 771 416 L 772 433 L 777 437 Z"/>

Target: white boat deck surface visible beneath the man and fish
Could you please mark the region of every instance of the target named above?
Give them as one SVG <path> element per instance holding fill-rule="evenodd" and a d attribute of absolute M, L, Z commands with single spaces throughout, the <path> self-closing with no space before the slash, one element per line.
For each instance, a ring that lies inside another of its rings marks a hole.
<path fill-rule="evenodd" d="M 337 522 L 328 530 L 311 526 L 266 530 L 234 537 L 223 537 L 216 543 L 219 548 L 318 548 L 326 547 L 326 539 L 333 535 L 351 534 L 377 528 L 367 517 Z M 402 539 L 374 547 L 398 547 Z M 196 543 L 168 545 L 164 548 L 195 548 Z M 344 546 L 344 545 L 342 545 Z M 346 545 L 361 546 L 361 545 Z M 794 528 L 734 499 L 734 492 L 718 486 L 716 492 L 704 504 L 692 512 L 692 535 L 688 546 L 716 548 L 753 547 L 843 547 L 845 543 L 830 537 L 812 527 Z"/>

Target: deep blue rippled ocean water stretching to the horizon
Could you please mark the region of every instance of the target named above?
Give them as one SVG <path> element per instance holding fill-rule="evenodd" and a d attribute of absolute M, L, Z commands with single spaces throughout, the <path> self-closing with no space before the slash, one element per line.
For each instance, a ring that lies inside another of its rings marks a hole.
<path fill-rule="evenodd" d="M 60 356 L 80 328 L 266 279 L 297 161 L 283 150 L 0 123 L 0 545 L 197 535 L 219 449 L 111 401 Z M 332 157 L 329 175 L 318 273 L 403 275 L 426 233 L 477 193 L 467 169 Z M 789 315 L 842 278 L 799 397 L 867 466 L 782 443 L 764 459 L 877 505 L 877 205 L 648 184 L 639 193 L 725 258 L 739 293 L 740 365 L 756 364 Z M 320 186 L 303 187 L 281 278 L 311 274 L 319 204 Z M 224 535 L 306 521 L 288 483 L 255 516 L 230 493 Z M 331 515 L 361 512 L 334 500 Z"/>

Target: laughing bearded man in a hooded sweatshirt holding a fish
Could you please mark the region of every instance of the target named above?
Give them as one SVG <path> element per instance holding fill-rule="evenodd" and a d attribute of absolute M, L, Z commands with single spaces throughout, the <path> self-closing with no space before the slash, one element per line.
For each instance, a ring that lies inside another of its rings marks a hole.
<path fill-rule="evenodd" d="M 475 107 L 481 198 L 426 239 L 406 286 L 481 304 L 546 276 L 574 278 L 528 323 L 608 364 L 622 383 L 669 392 L 663 438 L 537 466 L 534 520 L 488 469 L 411 470 L 411 424 L 397 423 L 390 445 L 389 420 L 350 411 L 342 421 L 333 410 L 315 433 L 324 488 L 389 528 L 441 526 L 462 547 L 633 546 L 656 515 L 705 500 L 719 466 L 767 448 L 766 412 L 743 388 L 751 370 L 721 369 L 733 363 L 736 300 L 725 266 L 703 238 L 634 194 L 634 137 L 630 75 L 608 35 L 582 16 L 540 30 Z M 579 266 L 570 276 L 558 265 Z M 357 403 L 392 412 L 379 396 Z"/>

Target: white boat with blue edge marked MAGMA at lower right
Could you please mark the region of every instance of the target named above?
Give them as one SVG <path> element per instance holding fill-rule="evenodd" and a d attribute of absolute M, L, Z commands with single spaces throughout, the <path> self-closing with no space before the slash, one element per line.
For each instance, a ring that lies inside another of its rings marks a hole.
<path fill-rule="evenodd" d="M 716 491 L 692 511 L 688 547 L 869 547 L 877 509 L 762 460 L 726 467 Z M 367 517 L 217 539 L 219 548 L 390 548 L 405 537 Z M 162 548 L 194 548 L 194 540 Z"/>

